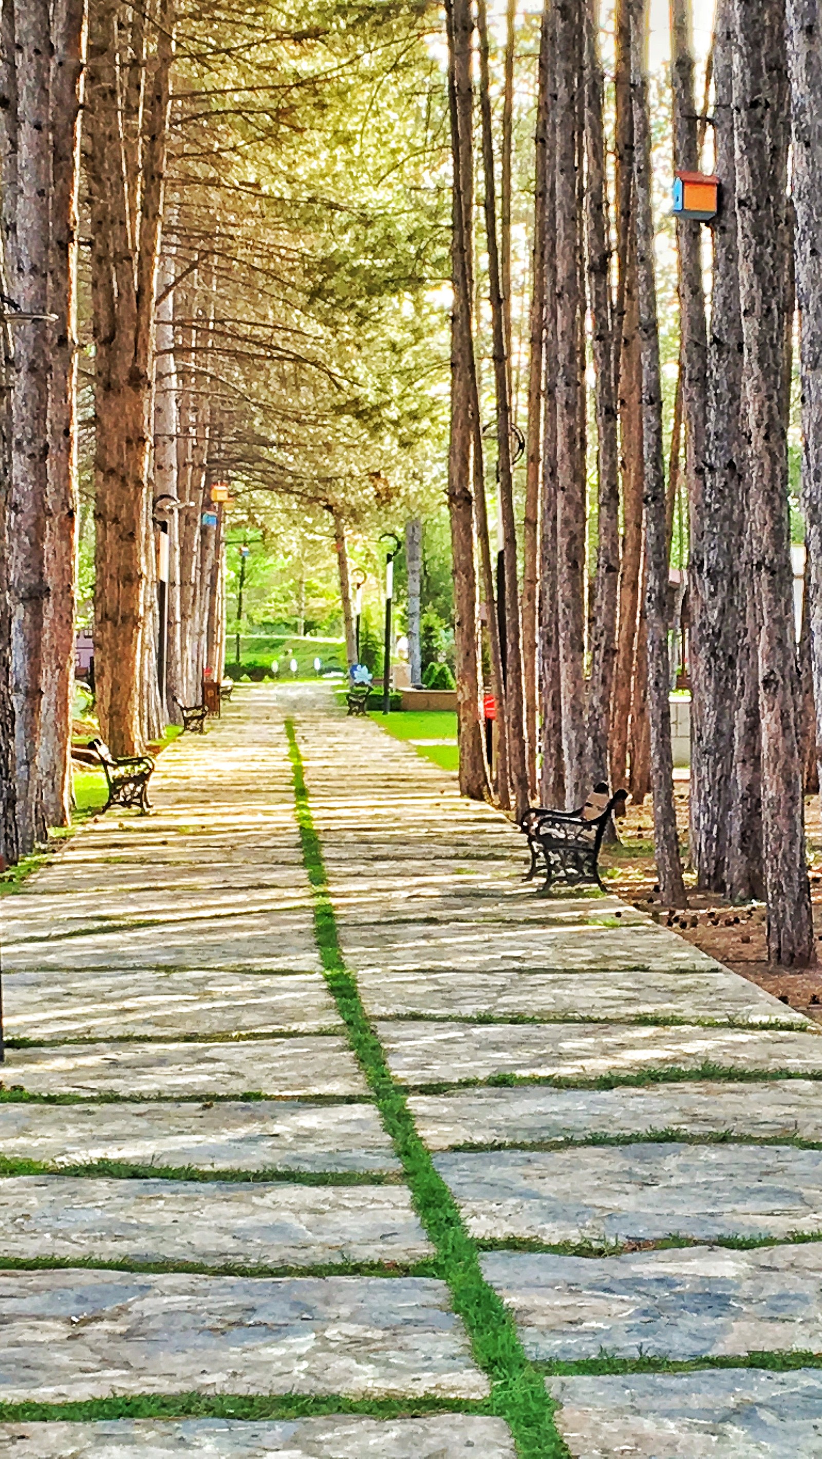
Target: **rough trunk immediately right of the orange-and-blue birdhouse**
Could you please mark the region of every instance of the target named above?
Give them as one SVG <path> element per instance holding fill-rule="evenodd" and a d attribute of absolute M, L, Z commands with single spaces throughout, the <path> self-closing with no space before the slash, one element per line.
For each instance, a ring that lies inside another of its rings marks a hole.
<path fill-rule="evenodd" d="M 713 223 L 711 330 L 702 495 L 691 506 L 691 855 L 698 886 L 726 893 L 749 884 L 743 871 L 746 848 L 756 858 L 761 829 L 751 814 L 759 805 L 751 776 L 759 766 L 755 702 L 749 702 L 742 662 L 746 627 L 742 438 L 742 315 L 736 238 L 736 162 L 733 147 L 733 10 L 720 0 L 714 28 L 714 149 L 721 177 L 720 213 Z M 755 670 L 754 670 L 755 674 Z M 739 697 L 742 694 L 742 697 Z M 737 706 L 730 712 L 730 706 Z M 739 725 L 735 728 L 735 718 Z M 751 735 L 754 732 L 754 741 Z M 745 788 L 737 795 L 735 738 Z M 732 851 L 733 843 L 733 851 Z M 733 861 L 733 878 L 729 867 Z M 754 865 L 761 886 L 761 867 Z"/>

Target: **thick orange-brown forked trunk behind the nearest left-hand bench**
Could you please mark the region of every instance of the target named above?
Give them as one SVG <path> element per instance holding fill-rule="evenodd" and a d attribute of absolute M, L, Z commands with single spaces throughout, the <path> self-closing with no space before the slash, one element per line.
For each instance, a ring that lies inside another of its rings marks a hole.
<path fill-rule="evenodd" d="M 172 0 L 160 0 L 150 85 L 121 117 L 118 6 L 92 0 L 89 131 L 95 315 L 95 673 L 98 715 L 115 754 L 141 744 L 152 347 L 169 79 Z M 133 54 L 133 69 L 143 57 Z M 125 66 L 128 70 L 128 66 Z M 121 144 L 121 130 L 124 143 Z"/>

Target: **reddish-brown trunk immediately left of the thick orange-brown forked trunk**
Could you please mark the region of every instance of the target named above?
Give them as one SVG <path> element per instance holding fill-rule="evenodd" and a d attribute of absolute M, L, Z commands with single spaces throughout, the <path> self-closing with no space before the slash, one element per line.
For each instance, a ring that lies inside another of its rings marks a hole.
<path fill-rule="evenodd" d="M 51 26 L 51 239 L 48 503 L 38 779 L 50 826 L 67 826 L 71 797 L 74 588 L 77 570 L 77 191 L 86 63 L 85 0 L 58 0 Z"/>

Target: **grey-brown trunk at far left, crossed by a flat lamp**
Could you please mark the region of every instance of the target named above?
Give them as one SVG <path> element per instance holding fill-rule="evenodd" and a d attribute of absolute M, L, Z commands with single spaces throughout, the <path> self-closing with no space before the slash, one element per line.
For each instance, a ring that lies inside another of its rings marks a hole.
<path fill-rule="evenodd" d="M 15 4 L 17 70 L 16 254 L 12 296 L 22 309 L 45 314 L 50 266 L 51 15 L 48 0 Z M 50 331 L 42 321 L 17 328 L 15 340 L 13 468 L 9 514 L 12 587 L 12 686 L 17 765 L 20 854 L 45 840 L 47 814 L 39 773 L 42 735 L 44 626 L 48 512 Z"/>

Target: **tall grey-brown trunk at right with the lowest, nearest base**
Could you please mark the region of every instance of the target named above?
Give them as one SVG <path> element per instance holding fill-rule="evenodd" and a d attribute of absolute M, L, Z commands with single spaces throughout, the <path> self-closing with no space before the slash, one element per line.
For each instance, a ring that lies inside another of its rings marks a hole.
<path fill-rule="evenodd" d="M 762 839 L 768 957 L 815 956 L 799 737 L 787 506 L 786 187 L 788 86 L 780 0 L 736 0 L 733 112 L 754 585 L 762 722 Z"/>

